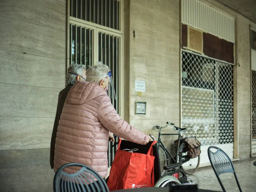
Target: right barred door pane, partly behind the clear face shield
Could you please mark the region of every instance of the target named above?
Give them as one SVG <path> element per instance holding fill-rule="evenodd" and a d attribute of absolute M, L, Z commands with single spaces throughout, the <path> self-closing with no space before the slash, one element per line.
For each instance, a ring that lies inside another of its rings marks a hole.
<path fill-rule="evenodd" d="M 119 58 L 120 58 L 120 37 L 104 32 L 98 32 L 99 61 L 108 65 L 113 78 L 116 90 L 116 100 L 112 99 L 112 104 L 118 113 L 118 91 L 119 91 Z"/>

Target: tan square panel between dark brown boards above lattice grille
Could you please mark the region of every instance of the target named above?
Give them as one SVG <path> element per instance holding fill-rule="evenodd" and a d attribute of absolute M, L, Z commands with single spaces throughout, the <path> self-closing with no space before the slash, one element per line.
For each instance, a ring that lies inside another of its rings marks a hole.
<path fill-rule="evenodd" d="M 203 52 L 202 32 L 189 27 L 189 48 L 197 52 Z"/>

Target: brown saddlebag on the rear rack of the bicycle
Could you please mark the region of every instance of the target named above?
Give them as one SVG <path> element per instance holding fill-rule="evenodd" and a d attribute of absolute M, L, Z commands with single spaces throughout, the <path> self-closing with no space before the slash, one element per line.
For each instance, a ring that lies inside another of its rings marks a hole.
<path fill-rule="evenodd" d="M 195 158 L 201 154 L 201 150 L 200 150 L 201 143 L 196 139 L 196 137 L 187 137 L 187 138 L 184 138 L 183 140 L 186 145 L 189 158 Z"/>

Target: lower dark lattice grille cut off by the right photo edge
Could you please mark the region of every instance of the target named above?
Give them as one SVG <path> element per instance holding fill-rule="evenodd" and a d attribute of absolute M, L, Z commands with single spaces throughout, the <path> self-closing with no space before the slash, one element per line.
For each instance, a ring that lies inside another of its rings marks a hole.
<path fill-rule="evenodd" d="M 256 71 L 252 71 L 252 139 L 256 140 Z"/>

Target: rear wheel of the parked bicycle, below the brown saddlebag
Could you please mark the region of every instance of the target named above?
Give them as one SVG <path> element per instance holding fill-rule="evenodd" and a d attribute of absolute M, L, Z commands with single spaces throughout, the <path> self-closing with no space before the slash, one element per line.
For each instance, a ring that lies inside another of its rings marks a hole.
<path fill-rule="evenodd" d="M 183 145 L 180 146 L 179 151 L 182 151 L 182 148 L 183 148 Z M 186 160 L 186 159 L 188 159 L 188 152 L 185 152 L 179 155 L 179 162 L 182 162 L 183 160 Z M 195 157 L 193 159 L 189 159 L 185 163 L 182 163 L 181 168 L 186 174 L 192 175 L 198 170 L 199 164 L 200 164 L 200 155 L 198 155 L 198 157 Z"/>

